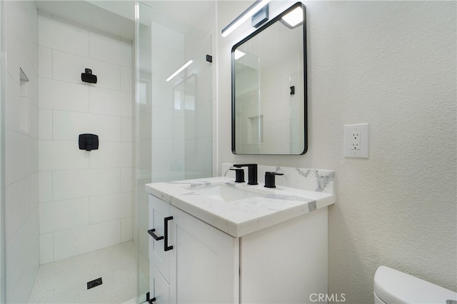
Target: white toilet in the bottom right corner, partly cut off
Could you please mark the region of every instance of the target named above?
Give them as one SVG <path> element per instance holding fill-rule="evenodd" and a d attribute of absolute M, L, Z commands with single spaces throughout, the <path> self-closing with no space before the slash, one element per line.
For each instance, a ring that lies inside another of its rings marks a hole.
<path fill-rule="evenodd" d="M 386 266 L 376 270 L 373 293 L 375 304 L 457 304 L 457 293 Z"/>

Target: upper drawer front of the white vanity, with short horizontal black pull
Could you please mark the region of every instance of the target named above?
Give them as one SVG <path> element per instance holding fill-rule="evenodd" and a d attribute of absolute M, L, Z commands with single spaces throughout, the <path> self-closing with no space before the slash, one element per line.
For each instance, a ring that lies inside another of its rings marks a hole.
<path fill-rule="evenodd" d="M 170 214 L 170 205 L 155 196 L 149 196 L 149 229 L 154 233 L 164 236 L 164 218 Z M 171 225 L 170 225 L 171 226 Z M 169 235 L 171 231 L 169 231 Z M 154 264 L 165 280 L 170 280 L 170 252 L 164 250 L 164 239 L 154 240 L 149 238 L 149 263 Z"/>

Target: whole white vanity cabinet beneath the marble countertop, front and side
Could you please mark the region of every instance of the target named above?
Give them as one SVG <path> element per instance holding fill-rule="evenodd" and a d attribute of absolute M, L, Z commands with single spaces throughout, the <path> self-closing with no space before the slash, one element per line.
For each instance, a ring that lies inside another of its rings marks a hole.
<path fill-rule="evenodd" d="M 233 237 L 150 195 L 149 229 L 159 238 L 149 240 L 155 303 L 312 303 L 327 293 L 326 207 Z"/>

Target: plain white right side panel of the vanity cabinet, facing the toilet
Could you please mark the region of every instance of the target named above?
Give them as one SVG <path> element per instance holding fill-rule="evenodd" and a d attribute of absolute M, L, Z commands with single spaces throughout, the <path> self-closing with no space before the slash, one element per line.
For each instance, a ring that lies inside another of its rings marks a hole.
<path fill-rule="evenodd" d="M 327 208 L 241 238 L 241 303 L 314 303 L 327 293 Z"/>

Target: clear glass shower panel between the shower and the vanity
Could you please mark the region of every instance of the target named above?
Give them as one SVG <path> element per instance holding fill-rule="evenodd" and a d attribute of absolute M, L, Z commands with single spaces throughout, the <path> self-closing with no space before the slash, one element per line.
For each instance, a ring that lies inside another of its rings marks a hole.
<path fill-rule="evenodd" d="M 144 185 L 212 175 L 211 34 L 173 16 L 171 6 L 179 4 L 136 4 L 134 238 L 139 248 L 139 303 L 149 292 L 149 204 Z M 211 14 L 211 9 L 194 11 Z"/>

